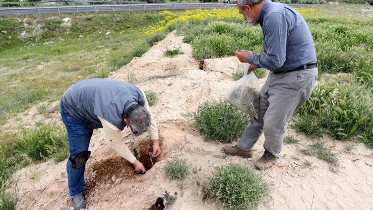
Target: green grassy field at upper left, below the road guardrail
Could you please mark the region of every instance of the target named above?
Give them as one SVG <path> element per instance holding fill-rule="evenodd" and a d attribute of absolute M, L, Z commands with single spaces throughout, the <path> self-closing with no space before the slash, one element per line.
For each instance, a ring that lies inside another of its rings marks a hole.
<path fill-rule="evenodd" d="M 79 80 L 107 77 L 166 36 L 164 32 L 144 36 L 140 31 L 162 19 L 158 12 L 69 17 L 70 28 L 61 25 L 63 15 L 1 18 L 0 29 L 7 34 L 0 34 L 0 125 L 30 105 L 59 100 Z M 24 38 L 22 31 L 27 33 Z M 111 34 L 105 35 L 106 31 Z M 83 38 L 77 39 L 79 35 Z M 55 43 L 43 44 L 50 41 Z"/>

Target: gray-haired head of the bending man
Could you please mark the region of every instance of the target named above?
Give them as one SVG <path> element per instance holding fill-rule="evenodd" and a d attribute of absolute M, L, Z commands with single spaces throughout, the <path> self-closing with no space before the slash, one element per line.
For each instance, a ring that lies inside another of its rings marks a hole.
<path fill-rule="evenodd" d="M 146 131 L 151 124 L 150 112 L 138 104 L 129 108 L 127 119 L 132 129 L 135 129 L 139 134 Z"/>

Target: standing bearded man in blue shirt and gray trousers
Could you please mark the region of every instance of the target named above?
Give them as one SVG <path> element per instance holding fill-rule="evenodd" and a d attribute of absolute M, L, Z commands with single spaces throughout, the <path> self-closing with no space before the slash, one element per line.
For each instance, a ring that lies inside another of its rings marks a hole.
<path fill-rule="evenodd" d="M 251 157 L 252 147 L 264 133 L 264 154 L 255 167 L 265 170 L 280 155 L 290 117 L 309 99 L 317 79 L 316 52 L 310 29 L 299 12 L 271 0 L 238 0 L 244 19 L 262 28 L 264 53 L 252 55 L 236 51 L 249 72 L 257 68 L 270 70 L 260 90 L 258 119 L 250 117 L 245 133 L 234 146 L 225 146 L 230 155 Z"/>

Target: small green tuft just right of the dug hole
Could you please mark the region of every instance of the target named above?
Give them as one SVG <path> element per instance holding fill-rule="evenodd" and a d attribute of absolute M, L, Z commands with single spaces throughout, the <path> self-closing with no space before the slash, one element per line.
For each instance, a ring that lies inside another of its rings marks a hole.
<path fill-rule="evenodd" d="M 165 176 L 171 180 L 184 179 L 189 174 L 190 165 L 187 164 L 186 159 L 176 159 L 165 165 Z"/>

